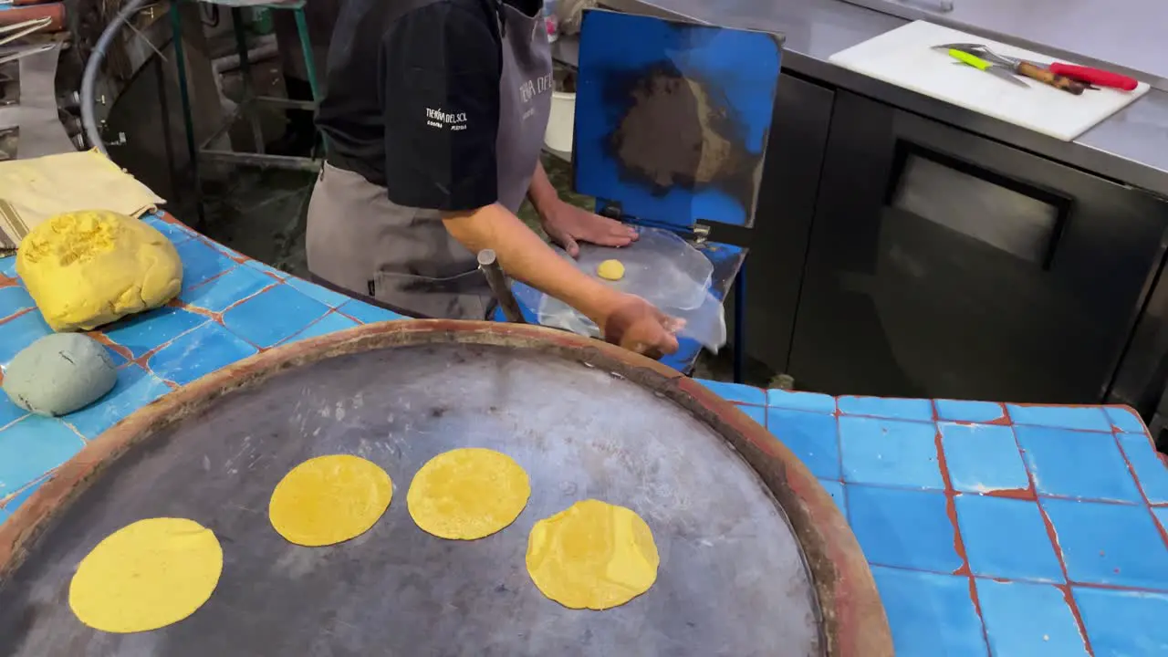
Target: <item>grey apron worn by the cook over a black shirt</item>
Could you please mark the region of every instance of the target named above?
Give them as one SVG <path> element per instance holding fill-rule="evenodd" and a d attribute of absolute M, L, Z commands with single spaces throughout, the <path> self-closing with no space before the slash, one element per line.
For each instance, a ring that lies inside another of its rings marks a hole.
<path fill-rule="evenodd" d="M 517 213 L 551 110 L 551 48 L 542 12 L 500 11 L 499 203 Z M 492 307 L 475 255 L 450 236 L 438 212 L 398 206 L 350 171 L 326 164 L 320 172 L 305 245 L 318 279 L 415 317 L 485 319 Z"/>

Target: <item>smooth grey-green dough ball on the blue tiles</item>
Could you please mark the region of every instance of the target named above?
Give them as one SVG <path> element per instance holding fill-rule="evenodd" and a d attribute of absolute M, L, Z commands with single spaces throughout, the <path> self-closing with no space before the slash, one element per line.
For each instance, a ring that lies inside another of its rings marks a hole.
<path fill-rule="evenodd" d="M 117 381 L 117 368 L 100 343 L 79 333 L 54 333 L 12 359 L 4 390 L 25 410 L 51 417 L 93 403 Z"/>

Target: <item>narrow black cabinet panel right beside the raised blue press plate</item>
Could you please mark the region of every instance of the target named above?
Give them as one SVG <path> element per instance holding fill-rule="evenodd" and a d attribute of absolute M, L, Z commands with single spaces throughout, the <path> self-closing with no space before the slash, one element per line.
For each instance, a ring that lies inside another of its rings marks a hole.
<path fill-rule="evenodd" d="M 787 367 L 833 96 L 832 90 L 784 71 L 774 99 L 755 226 L 750 230 L 714 228 L 715 240 L 750 248 L 746 353 L 774 372 Z"/>

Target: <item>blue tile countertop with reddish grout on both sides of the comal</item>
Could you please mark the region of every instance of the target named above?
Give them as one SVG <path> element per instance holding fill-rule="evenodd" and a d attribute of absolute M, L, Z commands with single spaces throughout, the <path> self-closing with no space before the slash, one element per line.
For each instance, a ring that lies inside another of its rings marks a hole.
<path fill-rule="evenodd" d="M 401 316 L 160 216 L 171 305 L 95 333 L 113 392 L 64 419 L 0 395 L 0 521 L 86 441 L 260 350 Z M 49 328 L 0 260 L 0 367 Z M 799 456 L 871 565 L 899 657 L 1168 655 L 1168 466 L 1120 407 L 896 400 L 707 382 Z"/>

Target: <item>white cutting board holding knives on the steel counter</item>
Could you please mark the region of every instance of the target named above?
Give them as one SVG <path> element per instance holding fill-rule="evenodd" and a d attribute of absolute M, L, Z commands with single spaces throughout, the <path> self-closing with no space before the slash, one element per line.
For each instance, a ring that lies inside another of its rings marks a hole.
<path fill-rule="evenodd" d="M 1140 83 L 1133 91 L 1087 89 L 1073 96 L 1028 77 L 1018 79 L 1030 85 L 1023 89 L 995 75 L 968 65 L 954 65 L 953 57 L 933 50 L 941 43 L 982 43 L 1007 57 L 1036 63 L 1076 62 L 1048 57 L 996 41 L 915 21 L 863 43 L 841 50 L 828 61 L 837 67 L 882 79 L 889 84 L 946 101 L 986 116 L 1028 127 L 1035 132 L 1070 141 L 1128 103 L 1147 94 Z"/>

